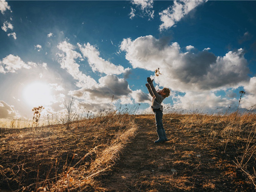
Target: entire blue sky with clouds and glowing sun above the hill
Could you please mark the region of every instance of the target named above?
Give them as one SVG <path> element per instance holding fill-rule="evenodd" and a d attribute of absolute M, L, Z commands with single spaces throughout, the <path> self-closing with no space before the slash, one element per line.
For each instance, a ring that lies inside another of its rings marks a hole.
<path fill-rule="evenodd" d="M 0 0 L 0 119 L 139 106 L 147 77 L 165 110 L 256 104 L 256 1 Z M 155 75 L 159 68 L 161 74 Z M 114 95 L 114 98 L 113 98 Z M 113 102 L 111 103 L 113 98 Z"/>

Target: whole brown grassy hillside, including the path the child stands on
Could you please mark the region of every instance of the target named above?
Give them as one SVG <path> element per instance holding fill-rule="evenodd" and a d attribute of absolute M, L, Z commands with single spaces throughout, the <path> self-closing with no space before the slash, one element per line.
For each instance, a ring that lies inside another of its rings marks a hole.
<path fill-rule="evenodd" d="M 239 116 L 235 125 L 232 119 L 164 115 L 169 141 L 160 144 L 153 142 L 153 115 L 99 117 L 74 122 L 70 130 L 63 125 L 5 130 L 0 189 L 253 191 L 255 115 Z"/>

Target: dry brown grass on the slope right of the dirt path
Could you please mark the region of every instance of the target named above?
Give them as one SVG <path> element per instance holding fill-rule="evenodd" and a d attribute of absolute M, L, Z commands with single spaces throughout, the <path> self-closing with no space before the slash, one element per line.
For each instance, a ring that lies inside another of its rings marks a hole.
<path fill-rule="evenodd" d="M 177 118 L 178 117 L 178 118 Z M 209 145 L 216 145 L 233 160 L 256 189 L 256 114 L 251 112 L 226 115 L 193 113 L 168 114 L 167 123 L 180 121 L 186 131 L 201 134 Z"/>

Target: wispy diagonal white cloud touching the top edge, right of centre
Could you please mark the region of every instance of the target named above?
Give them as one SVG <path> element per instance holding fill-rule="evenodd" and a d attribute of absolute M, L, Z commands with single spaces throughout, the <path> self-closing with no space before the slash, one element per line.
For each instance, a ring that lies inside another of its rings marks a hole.
<path fill-rule="evenodd" d="M 160 12 L 160 20 L 163 22 L 159 26 L 159 30 L 171 28 L 175 23 L 180 21 L 185 15 L 198 5 L 202 4 L 202 0 L 186 0 L 174 1 L 173 5 Z"/>

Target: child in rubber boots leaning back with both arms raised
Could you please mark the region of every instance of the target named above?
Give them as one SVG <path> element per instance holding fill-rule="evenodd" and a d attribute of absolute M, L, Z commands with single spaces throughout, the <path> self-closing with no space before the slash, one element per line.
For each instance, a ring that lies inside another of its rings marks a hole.
<path fill-rule="evenodd" d="M 162 123 L 162 118 L 163 118 L 163 106 L 161 105 L 162 101 L 170 95 L 170 89 L 164 88 L 160 91 L 156 91 L 153 81 L 154 79 L 151 80 L 150 77 L 147 78 L 148 83 L 146 84 L 148 88 L 149 94 L 153 97 L 152 99 L 152 105 L 151 108 L 153 109 L 155 113 L 155 118 L 156 118 L 156 132 L 158 135 L 158 140 L 155 141 L 155 143 L 160 143 L 164 141 L 168 141 L 164 126 Z"/>

